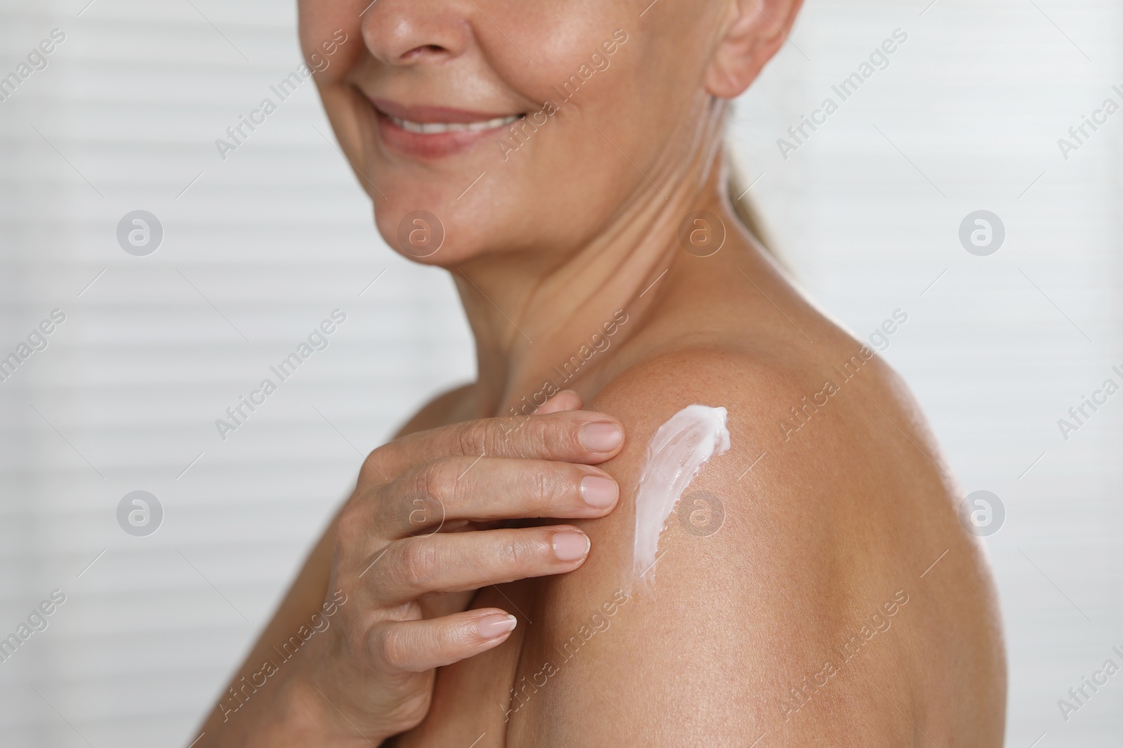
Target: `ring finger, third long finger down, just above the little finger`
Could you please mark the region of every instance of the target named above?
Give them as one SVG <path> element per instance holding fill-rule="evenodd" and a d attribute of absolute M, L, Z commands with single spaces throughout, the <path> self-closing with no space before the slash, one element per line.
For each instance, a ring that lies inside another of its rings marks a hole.
<path fill-rule="evenodd" d="M 588 537 L 568 525 L 437 533 L 391 543 L 367 580 L 381 606 L 476 590 L 581 566 Z M 377 554 L 375 554 L 377 555 Z"/>

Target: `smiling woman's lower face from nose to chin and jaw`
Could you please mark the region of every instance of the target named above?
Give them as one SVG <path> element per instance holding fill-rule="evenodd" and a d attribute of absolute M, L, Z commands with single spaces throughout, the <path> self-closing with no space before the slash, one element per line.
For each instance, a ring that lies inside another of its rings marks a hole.
<path fill-rule="evenodd" d="M 380 232 L 449 266 L 575 252 L 696 157 L 724 6 L 304 0 L 301 41 Z"/>

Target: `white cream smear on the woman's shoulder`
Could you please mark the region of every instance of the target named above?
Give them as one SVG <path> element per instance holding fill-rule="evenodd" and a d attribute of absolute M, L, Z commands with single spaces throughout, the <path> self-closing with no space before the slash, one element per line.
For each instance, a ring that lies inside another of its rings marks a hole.
<path fill-rule="evenodd" d="M 636 488 L 632 583 L 655 579 L 659 534 L 702 467 L 729 450 L 725 408 L 687 405 L 659 426 L 647 445 L 647 464 Z"/>

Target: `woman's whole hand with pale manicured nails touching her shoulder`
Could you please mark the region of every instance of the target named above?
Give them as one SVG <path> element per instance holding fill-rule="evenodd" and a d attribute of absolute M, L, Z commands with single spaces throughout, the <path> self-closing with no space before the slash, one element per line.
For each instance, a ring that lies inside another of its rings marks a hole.
<path fill-rule="evenodd" d="M 517 620 L 466 610 L 475 590 L 584 563 L 590 542 L 572 525 L 503 521 L 601 517 L 615 506 L 615 481 L 592 465 L 620 451 L 622 428 L 569 409 L 579 407 L 560 393 L 529 418 L 411 434 L 366 459 L 335 532 L 328 598 L 346 601 L 285 678 L 284 703 L 320 745 L 378 745 L 414 727 L 436 667 L 502 644 Z"/>

